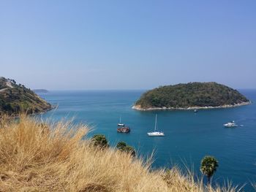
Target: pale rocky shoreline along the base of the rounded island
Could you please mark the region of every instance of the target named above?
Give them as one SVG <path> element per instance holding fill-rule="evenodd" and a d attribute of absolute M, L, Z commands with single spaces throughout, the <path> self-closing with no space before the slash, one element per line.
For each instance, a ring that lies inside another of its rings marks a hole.
<path fill-rule="evenodd" d="M 232 107 L 241 107 L 244 105 L 248 105 L 248 104 L 252 104 L 252 101 L 248 101 L 248 102 L 242 102 L 240 104 L 225 104 L 222 106 L 217 106 L 217 107 L 213 107 L 213 106 L 208 106 L 208 107 L 187 107 L 187 108 L 183 108 L 183 107 L 149 107 L 147 109 L 143 109 L 140 107 L 140 105 L 136 106 L 132 106 L 133 110 L 138 110 L 138 111 L 154 111 L 154 110 L 211 110 L 211 109 L 225 109 L 225 108 L 232 108 Z"/>

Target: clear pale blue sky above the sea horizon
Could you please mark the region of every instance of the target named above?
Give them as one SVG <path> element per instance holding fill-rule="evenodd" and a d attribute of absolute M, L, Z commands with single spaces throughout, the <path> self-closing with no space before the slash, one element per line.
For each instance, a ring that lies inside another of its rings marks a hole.
<path fill-rule="evenodd" d="M 0 1 L 0 76 L 29 88 L 256 88 L 256 1 Z"/>

